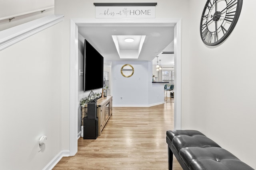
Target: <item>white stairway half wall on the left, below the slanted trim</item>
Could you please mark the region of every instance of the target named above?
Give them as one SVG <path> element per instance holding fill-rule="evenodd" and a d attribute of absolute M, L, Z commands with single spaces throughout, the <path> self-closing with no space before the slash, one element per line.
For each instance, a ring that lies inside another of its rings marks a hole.
<path fill-rule="evenodd" d="M 61 142 L 59 25 L 0 51 L 0 169 L 41 170 Z M 48 137 L 39 151 L 38 140 Z"/>

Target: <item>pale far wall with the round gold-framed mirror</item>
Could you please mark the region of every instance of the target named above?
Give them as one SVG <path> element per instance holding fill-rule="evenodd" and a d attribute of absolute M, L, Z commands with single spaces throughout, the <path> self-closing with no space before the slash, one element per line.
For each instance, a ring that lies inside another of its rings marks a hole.
<path fill-rule="evenodd" d="M 124 64 L 133 66 L 134 74 L 131 77 L 122 76 L 120 70 Z M 152 62 L 113 61 L 112 69 L 113 106 L 146 107 L 164 102 L 163 96 L 159 95 L 159 92 L 163 92 L 163 86 L 159 89 L 158 84 L 152 84 Z"/>

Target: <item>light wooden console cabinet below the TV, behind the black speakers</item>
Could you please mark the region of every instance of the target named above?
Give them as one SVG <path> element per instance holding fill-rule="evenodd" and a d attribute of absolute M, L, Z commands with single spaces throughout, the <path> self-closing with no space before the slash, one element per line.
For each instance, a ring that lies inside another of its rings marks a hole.
<path fill-rule="evenodd" d="M 87 106 L 85 107 L 87 112 Z M 97 100 L 97 117 L 98 117 L 98 136 L 105 127 L 108 119 L 112 115 L 112 96 L 99 98 Z"/>

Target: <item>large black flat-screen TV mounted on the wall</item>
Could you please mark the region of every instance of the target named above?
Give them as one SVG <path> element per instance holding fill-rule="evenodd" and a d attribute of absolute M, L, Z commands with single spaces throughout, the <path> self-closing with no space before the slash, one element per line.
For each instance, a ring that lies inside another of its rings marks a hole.
<path fill-rule="evenodd" d="M 103 88 L 103 57 L 84 40 L 84 92 Z"/>

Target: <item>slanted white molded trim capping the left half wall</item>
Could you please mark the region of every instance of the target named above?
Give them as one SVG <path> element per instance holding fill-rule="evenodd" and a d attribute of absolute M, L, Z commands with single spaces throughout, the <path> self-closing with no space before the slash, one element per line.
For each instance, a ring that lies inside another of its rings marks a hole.
<path fill-rule="evenodd" d="M 0 31 L 0 51 L 63 20 L 64 15 L 50 15 Z"/>

